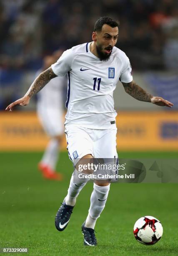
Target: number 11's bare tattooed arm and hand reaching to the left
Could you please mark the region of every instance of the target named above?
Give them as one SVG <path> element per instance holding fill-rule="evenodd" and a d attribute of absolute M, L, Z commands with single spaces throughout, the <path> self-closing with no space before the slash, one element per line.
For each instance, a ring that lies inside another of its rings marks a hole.
<path fill-rule="evenodd" d="M 53 69 L 49 67 L 45 71 L 39 74 L 39 76 L 35 79 L 35 81 L 30 86 L 28 92 L 20 99 L 12 102 L 5 110 L 12 111 L 13 108 L 17 105 L 26 106 L 30 102 L 30 98 L 33 97 L 34 94 L 39 92 L 51 79 L 57 77 L 57 75 L 53 72 Z"/>

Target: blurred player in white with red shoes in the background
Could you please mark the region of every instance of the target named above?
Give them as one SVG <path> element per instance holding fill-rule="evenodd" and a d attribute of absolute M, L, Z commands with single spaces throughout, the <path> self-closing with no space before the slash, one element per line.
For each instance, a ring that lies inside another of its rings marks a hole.
<path fill-rule="evenodd" d="M 63 51 L 55 51 L 53 55 L 44 58 L 42 69 L 36 73 L 37 77 L 41 72 L 51 66 Z M 60 143 L 64 133 L 63 125 L 63 86 L 67 84 L 67 77 L 55 77 L 38 94 L 37 113 L 40 123 L 50 137 L 43 157 L 38 164 L 39 170 L 46 179 L 61 180 L 62 175 L 55 171 L 58 161 Z"/>

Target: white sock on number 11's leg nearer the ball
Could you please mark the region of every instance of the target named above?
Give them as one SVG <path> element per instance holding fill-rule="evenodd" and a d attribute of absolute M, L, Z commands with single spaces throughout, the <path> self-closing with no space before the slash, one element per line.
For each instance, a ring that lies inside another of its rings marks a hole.
<path fill-rule="evenodd" d="M 100 214 L 105 207 L 109 189 L 110 184 L 105 187 L 100 187 L 95 183 L 93 184 L 93 192 L 90 198 L 90 209 L 88 211 L 89 215 L 85 221 L 85 227 L 94 229 L 96 220 L 100 217 Z"/>

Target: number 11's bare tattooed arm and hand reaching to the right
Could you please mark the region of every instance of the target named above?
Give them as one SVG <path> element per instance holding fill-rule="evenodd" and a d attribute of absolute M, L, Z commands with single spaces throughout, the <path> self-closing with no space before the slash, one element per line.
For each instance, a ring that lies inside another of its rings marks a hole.
<path fill-rule="evenodd" d="M 130 96 L 134 97 L 136 100 L 151 102 L 158 106 L 166 106 L 172 108 L 173 103 L 168 100 L 163 99 L 162 97 L 155 97 L 150 93 L 143 90 L 138 84 L 134 81 L 130 83 L 122 82 L 125 92 L 127 92 Z"/>

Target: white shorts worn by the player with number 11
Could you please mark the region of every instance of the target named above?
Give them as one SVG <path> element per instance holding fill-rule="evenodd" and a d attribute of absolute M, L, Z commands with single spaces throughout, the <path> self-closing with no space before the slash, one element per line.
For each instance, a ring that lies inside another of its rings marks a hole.
<path fill-rule="evenodd" d="M 85 155 L 94 158 L 118 158 L 116 151 L 117 128 L 98 130 L 78 125 L 65 125 L 67 149 L 74 166 Z"/>

